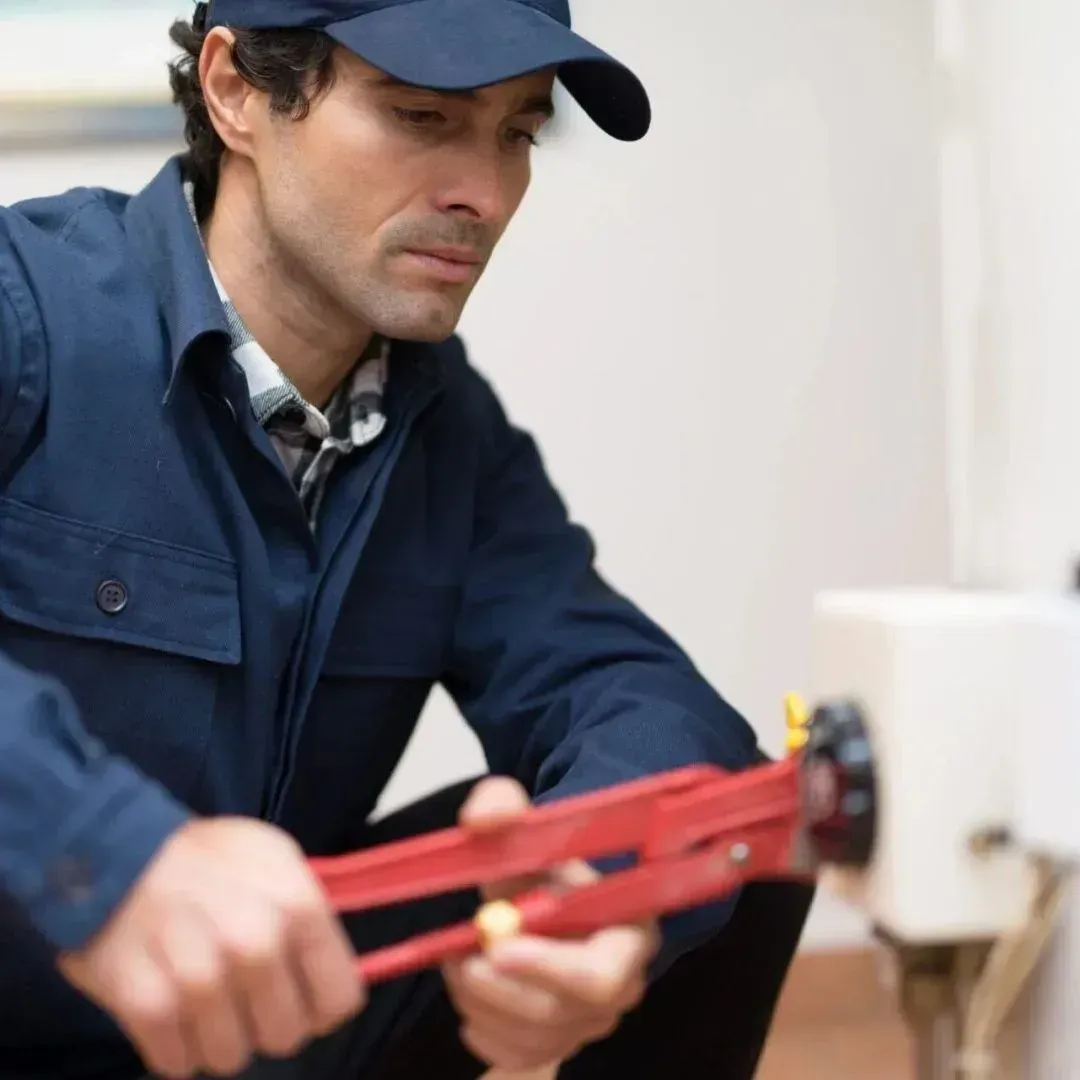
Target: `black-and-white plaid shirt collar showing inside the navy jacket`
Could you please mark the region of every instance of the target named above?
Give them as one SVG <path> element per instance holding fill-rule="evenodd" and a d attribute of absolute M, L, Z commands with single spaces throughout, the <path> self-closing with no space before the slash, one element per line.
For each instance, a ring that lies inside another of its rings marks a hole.
<path fill-rule="evenodd" d="M 185 186 L 194 217 L 191 185 Z M 207 260 L 208 261 L 208 260 Z M 335 463 L 374 442 L 387 426 L 382 409 L 390 342 L 373 337 L 352 374 L 325 410 L 303 400 L 284 372 L 240 318 L 220 279 L 210 267 L 229 326 L 232 357 L 247 380 L 252 410 L 266 429 L 297 489 L 314 528 L 326 481 Z"/>

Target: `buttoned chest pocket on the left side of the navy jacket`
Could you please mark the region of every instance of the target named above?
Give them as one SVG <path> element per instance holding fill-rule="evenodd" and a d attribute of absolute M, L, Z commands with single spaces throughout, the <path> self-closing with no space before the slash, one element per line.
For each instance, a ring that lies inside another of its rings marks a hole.
<path fill-rule="evenodd" d="M 189 799 L 241 660 L 235 564 L 0 500 L 0 649 L 64 684 L 91 734 Z"/>

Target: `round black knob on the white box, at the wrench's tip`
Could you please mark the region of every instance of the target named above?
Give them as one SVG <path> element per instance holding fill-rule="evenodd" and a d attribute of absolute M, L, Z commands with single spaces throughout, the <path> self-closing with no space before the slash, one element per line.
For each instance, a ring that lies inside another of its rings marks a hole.
<path fill-rule="evenodd" d="M 802 754 L 807 833 L 819 863 L 862 868 L 874 854 L 877 780 L 866 721 L 853 701 L 814 711 Z"/>

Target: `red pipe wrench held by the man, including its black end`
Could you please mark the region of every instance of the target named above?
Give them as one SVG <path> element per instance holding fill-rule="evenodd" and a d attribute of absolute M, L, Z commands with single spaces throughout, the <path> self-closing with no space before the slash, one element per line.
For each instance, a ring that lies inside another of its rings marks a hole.
<path fill-rule="evenodd" d="M 527 810 L 494 832 L 447 828 L 311 865 L 338 910 L 359 912 L 571 860 L 636 856 L 594 883 L 485 904 L 469 922 L 360 957 L 360 975 L 375 984 L 503 937 L 584 936 L 721 900 L 751 880 L 812 879 L 823 850 L 865 863 L 873 772 L 858 711 L 839 703 L 808 718 L 792 698 L 788 729 L 789 756 L 778 762 L 679 769 Z"/>

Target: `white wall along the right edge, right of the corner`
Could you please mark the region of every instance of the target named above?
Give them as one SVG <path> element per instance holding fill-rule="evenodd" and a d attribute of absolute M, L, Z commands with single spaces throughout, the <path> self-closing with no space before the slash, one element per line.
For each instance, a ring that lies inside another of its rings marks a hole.
<path fill-rule="evenodd" d="M 984 586 L 1056 592 L 1074 580 L 1080 541 L 1080 8 L 970 0 L 960 14 L 950 57 L 960 104 L 951 121 L 980 167 L 970 189 L 976 230 L 967 249 L 963 232 L 956 238 L 950 279 L 957 280 L 947 284 L 950 296 L 963 295 L 959 271 L 967 258 L 975 287 L 974 303 L 950 305 L 947 318 L 957 330 L 948 360 L 961 372 L 964 360 L 969 365 L 972 578 Z M 1043 753 L 1067 755 L 1068 746 L 1051 744 Z M 1062 824 L 1076 835 L 1065 797 L 1063 788 Z M 1029 999 L 1016 1010 L 1025 1077 L 1080 1076 L 1078 975 L 1080 881 L 1074 880 Z"/>

